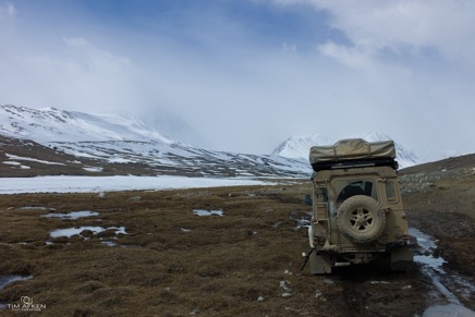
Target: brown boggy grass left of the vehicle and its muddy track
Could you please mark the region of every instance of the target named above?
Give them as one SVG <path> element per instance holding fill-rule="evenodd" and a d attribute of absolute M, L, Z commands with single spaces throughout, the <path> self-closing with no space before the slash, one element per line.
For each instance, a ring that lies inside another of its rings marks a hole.
<path fill-rule="evenodd" d="M 296 230 L 289 216 L 309 209 L 303 204 L 307 190 L 1 196 L 0 276 L 34 278 L 8 285 L 0 302 L 17 303 L 27 295 L 46 304 L 51 316 L 280 314 L 287 301 L 279 298 L 279 281 L 285 270 L 299 271 L 300 254 L 307 249 L 306 231 Z M 49 210 L 22 207 L 100 215 L 60 220 L 41 217 Z M 198 217 L 193 209 L 222 209 L 226 216 Z M 87 240 L 49 236 L 51 230 L 80 225 L 123 225 L 127 234 L 117 240 L 111 232 L 84 232 Z"/>

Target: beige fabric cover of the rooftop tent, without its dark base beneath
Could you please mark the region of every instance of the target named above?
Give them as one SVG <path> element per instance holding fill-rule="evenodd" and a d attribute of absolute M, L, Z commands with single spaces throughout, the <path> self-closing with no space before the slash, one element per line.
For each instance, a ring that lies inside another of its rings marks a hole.
<path fill-rule="evenodd" d="M 366 142 L 363 138 L 348 138 L 331 146 L 313 146 L 309 156 L 310 164 L 368 158 L 395 158 L 394 142 Z"/>

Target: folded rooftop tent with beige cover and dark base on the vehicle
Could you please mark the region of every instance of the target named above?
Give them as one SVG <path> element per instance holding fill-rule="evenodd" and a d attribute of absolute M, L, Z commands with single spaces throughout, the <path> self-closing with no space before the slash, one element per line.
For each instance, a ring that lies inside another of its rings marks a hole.
<path fill-rule="evenodd" d="M 363 138 L 348 138 L 330 146 L 313 146 L 309 161 L 315 171 L 332 169 L 342 162 L 372 162 L 373 166 L 394 166 L 393 141 L 366 142 Z M 397 164 L 395 164 L 397 168 Z"/>

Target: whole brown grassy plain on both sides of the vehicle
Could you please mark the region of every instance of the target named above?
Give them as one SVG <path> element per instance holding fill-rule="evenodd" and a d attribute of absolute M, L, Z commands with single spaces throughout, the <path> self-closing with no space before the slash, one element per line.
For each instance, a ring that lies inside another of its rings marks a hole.
<path fill-rule="evenodd" d="M 301 271 L 308 239 L 294 218 L 309 211 L 309 185 L 0 196 L 0 277 L 32 277 L 0 290 L 0 315 L 27 316 L 11 309 L 22 296 L 45 305 L 41 316 L 422 316 L 453 302 L 417 263 L 403 273 L 385 263 L 330 276 Z M 421 195 L 437 194 L 405 194 L 410 222 L 439 240 L 449 263 L 448 281 L 437 280 L 475 309 L 473 219 L 422 205 Z M 99 215 L 42 217 L 81 210 Z M 454 222 L 458 235 L 447 225 Z M 80 225 L 110 230 L 50 236 Z M 115 234 L 120 227 L 126 234 Z"/>

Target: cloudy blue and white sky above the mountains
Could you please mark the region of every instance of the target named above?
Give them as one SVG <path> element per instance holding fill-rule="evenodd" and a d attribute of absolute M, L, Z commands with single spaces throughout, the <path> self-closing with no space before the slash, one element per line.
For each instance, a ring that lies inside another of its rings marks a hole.
<path fill-rule="evenodd" d="M 0 0 L 0 103 L 475 151 L 474 38 L 472 0 Z"/>

